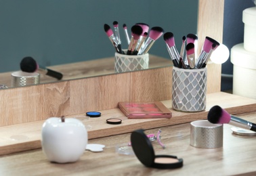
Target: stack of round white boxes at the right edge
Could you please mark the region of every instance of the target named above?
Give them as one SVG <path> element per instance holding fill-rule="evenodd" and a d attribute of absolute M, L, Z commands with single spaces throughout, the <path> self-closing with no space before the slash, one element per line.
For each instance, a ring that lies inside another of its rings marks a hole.
<path fill-rule="evenodd" d="M 256 7 L 244 9 L 244 43 L 231 49 L 233 93 L 256 99 Z"/>

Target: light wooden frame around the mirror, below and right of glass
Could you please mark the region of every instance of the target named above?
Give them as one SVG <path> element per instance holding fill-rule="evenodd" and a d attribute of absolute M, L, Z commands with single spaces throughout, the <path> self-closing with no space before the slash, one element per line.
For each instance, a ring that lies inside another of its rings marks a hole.
<path fill-rule="evenodd" d="M 206 36 L 222 42 L 222 0 L 199 0 L 198 48 Z M 0 127 L 117 108 L 118 102 L 171 100 L 172 67 L 16 87 L 0 91 Z M 221 65 L 207 65 L 207 93 L 219 92 Z M 150 95 L 150 96 L 149 96 Z"/>

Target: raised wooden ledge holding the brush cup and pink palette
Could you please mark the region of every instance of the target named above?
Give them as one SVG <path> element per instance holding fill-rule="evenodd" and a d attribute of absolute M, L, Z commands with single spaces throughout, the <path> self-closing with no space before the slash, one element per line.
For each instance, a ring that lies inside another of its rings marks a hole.
<path fill-rule="evenodd" d="M 67 117 L 82 120 L 87 127 L 89 139 L 95 139 L 129 133 L 140 128 L 152 129 L 206 119 L 209 109 L 215 105 L 225 108 L 230 114 L 256 111 L 256 100 L 222 92 L 209 93 L 207 95 L 207 109 L 202 112 L 178 112 L 171 108 L 171 100 L 162 102 L 171 110 L 172 118 L 128 119 L 119 108 L 101 110 L 102 116 L 100 118 L 87 119 L 85 113 Z M 108 125 L 106 124 L 108 118 L 121 118 L 123 122 L 121 125 Z M 45 120 L 37 120 L 0 127 L 0 155 L 41 148 L 41 128 L 44 122 Z"/>

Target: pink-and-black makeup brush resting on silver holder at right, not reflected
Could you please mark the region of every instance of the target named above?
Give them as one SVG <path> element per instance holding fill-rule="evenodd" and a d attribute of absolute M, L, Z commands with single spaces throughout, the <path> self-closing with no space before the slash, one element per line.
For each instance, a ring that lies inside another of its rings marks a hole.
<path fill-rule="evenodd" d="M 256 124 L 251 123 L 242 118 L 230 115 L 226 110 L 222 109 L 220 106 L 213 106 L 207 115 L 210 123 L 234 125 L 243 129 L 249 129 L 251 131 L 256 131 Z"/>

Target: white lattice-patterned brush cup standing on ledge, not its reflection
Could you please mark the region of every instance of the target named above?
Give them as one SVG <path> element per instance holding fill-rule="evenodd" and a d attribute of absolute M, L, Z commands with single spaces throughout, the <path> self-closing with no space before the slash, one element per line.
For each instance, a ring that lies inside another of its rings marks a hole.
<path fill-rule="evenodd" d="M 182 112 L 206 108 L 207 68 L 183 69 L 173 66 L 172 107 Z"/>

